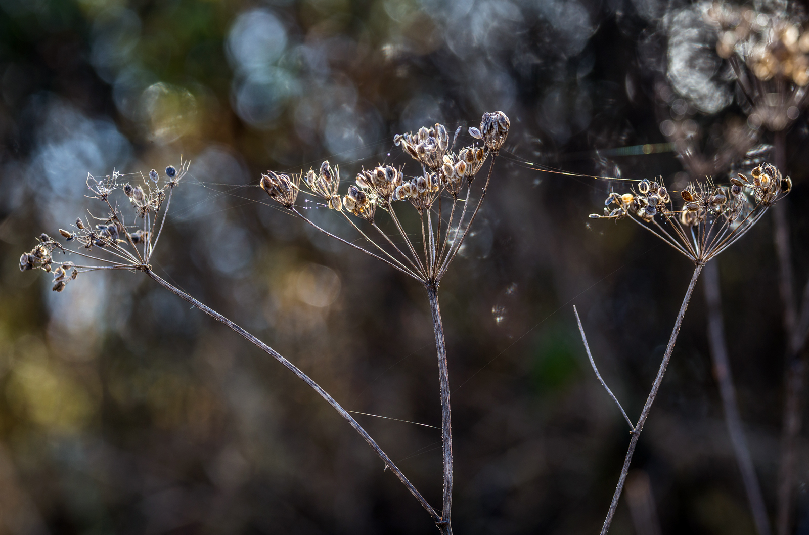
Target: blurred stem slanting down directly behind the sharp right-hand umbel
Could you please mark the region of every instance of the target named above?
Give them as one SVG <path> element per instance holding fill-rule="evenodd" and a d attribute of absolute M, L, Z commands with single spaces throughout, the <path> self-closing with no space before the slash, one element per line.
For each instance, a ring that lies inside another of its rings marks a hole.
<path fill-rule="evenodd" d="M 756 531 L 759 535 L 769 535 L 771 530 L 767 518 L 767 507 L 750 455 L 748 439 L 744 435 L 742 418 L 739 416 L 739 405 L 736 402 L 736 390 L 731 377 L 731 363 L 727 356 L 724 322 L 722 321 L 722 298 L 719 291 L 718 271 L 716 262 L 710 262 L 705 265 L 705 276 L 702 278 L 705 304 L 708 307 L 708 342 L 711 359 L 714 361 L 714 375 L 722 396 L 727 433 L 731 436 L 733 451 L 736 461 L 739 463 L 739 471 L 742 473 L 744 490 L 747 491 Z"/>

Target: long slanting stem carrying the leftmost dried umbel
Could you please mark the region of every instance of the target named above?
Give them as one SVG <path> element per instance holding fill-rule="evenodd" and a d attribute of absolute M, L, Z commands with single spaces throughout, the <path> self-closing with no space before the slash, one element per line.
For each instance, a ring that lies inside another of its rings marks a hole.
<path fill-rule="evenodd" d="M 276 359 L 279 363 L 282 363 L 284 367 L 290 370 L 290 372 L 294 373 L 295 376 L 298 376 L 300 380 L 303 380 L 304 383 L 309 385 L 311 389 L 313 389 L 316 393 L 320 394 L 320 397 L 323 397 L 324 400 L 328 401 L 328 404 L 332 405 L 334 410 L 337 410 L 337 412 L 349 422 L 351 427 L 354 427 L 354 431 L 357 431 L 360 435 L 362 435 L 362 438 L 365 439 L 366 443 L 368 443 L 369 446 L 371 446 L 371 448 L 376 452 L 379 458 L 382 459 L 385 465 L 389 469 L 391 469 L 391 471 L 396 474 L 396 477 L 399 478 L 399 481 L 402 482 L 404 486 L 407 487 L 407 489 L 410 491 L 410 494 L 412 494 L 418 500 L 418 502 L 421 503 L 421 507 L 424 507 L 426 511 L 430 513 L 430 516 L 433 518 L 433 520 L 436 523 L 441 521 L 441 518 L 438 516 L 438 513 L 435 512 L 433 507 L 430 506 L 430 503 L 427 503 L 427 500 L 424 499 L 423 496 L 421 496 L 419 491 L 416 490 L 416 487 L 413 486 L 413 483 L 409 482 L 408 478 L 404 476 L 404 473 L 401 472 L 401 470 L 396 466 L 396 464 L 394 464 L 394 462 L 391 461 L 391 458 L 388 457 L 388 454 L 383 452 L 382 448 L 379 448 L 379 445 L 376 444 L 374 439 L 371 438 L 371 435 L 368 435 L 368 433 L 364 429 L 362 429 L 362 426 L 359 425 L 359 423 L 351 416 L 351 414 L 349 414 L 347 410 L 343 409 L 342 405 L 337 403 L 337 401 L 335 401 L 334 398 L 331 397 L 331 395 L 329 395 L 328 392 L 326 392 L 324 389 L 320 387 L 320 384 L 317 384 L 314 380 L 311 380 L 311 378 L 307 376 L 305 373 L 303 373 L 299 367 L 295 366 L 293 363 L 290 363 L 289 360 L 282 357 L 282 355 L 279 354 L 276 350 L 273 350 L 272 347 L 268 346 L 264 342 L 261 342 L 251 333 L 248 333 L 246 330 L 239 327 L 239 325 L 236 325 L 232 321 L 228 320 L 227 317 L 222 316 L 222 314 L 216 312 L 213 308 L 206 307 L 204 304 L 201 304 L 199 301 L 197 301 L 197 299 L 194 299 L 191 295 L 186 294 L 179 288 L 176 288 L 171 284 L 169 284 L 168 282 L 164 281 L 163 278 L 160 278 L 157 274 L 155 274 L 154 271 L 150 270 L 148 267 L 143 268 L 143 270 L 146 272 L 147 275 L 150 276 L 150 278 L 153 278 L 156 282 L 158 282 L 160 286 L 166 288 L 168 291 L 171 291 L 172 294 L 177 295 L 181 299 L 184 299 L 189 304 L 193 304 L 193 306 L 199 308 L 202 312 L 205 312 L 205 314 L 208 314 L 209 316 L 213 317 L 214 320 L 227 325 L 228 327 L 233 329 L 235 333 L 239 334 L 239 336 L 241 336 L 248 342 L 251 342 L 254 346 L 258 347 L 260 350 L 263 350 L 267 355 L 270 355 L 271 357 L 273 357 L 273 359 Z"/>

